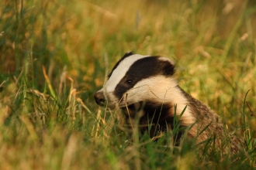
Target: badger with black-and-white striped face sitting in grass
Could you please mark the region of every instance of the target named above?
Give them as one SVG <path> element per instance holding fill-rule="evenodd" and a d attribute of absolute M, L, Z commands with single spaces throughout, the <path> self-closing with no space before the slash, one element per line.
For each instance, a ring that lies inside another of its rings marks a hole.
<path fill-rule="evenodd" d="M 175 64 L 167 57 L 126 53 L 95 93 L 95 102 L 111 110 L 120 108 L 128 122 L 140 114 L 140 131 L 150 138 L 174 128 L 178 117 L 180 127 L 189 129 L 187 135 L 196 144 L 218 137 L 215 143 L 221 145 L 225 132 L 220 116 L 182 90 L 174 74 Z"/>

